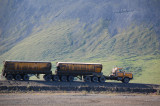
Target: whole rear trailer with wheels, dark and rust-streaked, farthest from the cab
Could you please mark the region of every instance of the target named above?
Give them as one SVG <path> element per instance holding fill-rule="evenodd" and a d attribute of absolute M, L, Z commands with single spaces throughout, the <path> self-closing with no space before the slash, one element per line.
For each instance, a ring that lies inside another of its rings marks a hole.
<path fill-rule="evenodd" d="M 4 61 L 2 69 L 2 77 L 7 80 L 29 80 L 29 74 L 39 76 L 45 74 L 45 79 L 49 79 L 52 74 L 51 62 L 39 61 Z"/>

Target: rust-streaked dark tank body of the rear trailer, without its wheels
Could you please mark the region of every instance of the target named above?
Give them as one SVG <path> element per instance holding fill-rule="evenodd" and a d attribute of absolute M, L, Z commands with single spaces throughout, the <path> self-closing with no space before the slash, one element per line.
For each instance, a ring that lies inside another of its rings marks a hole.
<path fill-rule="evenodd" d="M 50 62 L 4 61 L 3 74 L 46 74 L 51 73 Z"/>

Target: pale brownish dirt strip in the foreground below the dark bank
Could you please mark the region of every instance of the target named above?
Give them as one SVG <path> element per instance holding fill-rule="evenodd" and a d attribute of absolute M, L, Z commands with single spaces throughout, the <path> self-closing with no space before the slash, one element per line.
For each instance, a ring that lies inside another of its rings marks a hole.
<path fill-rule="evenodd" d="M 160 96 L 85 93 L 0 94 L 0 106 L 159 106 Z"/>

